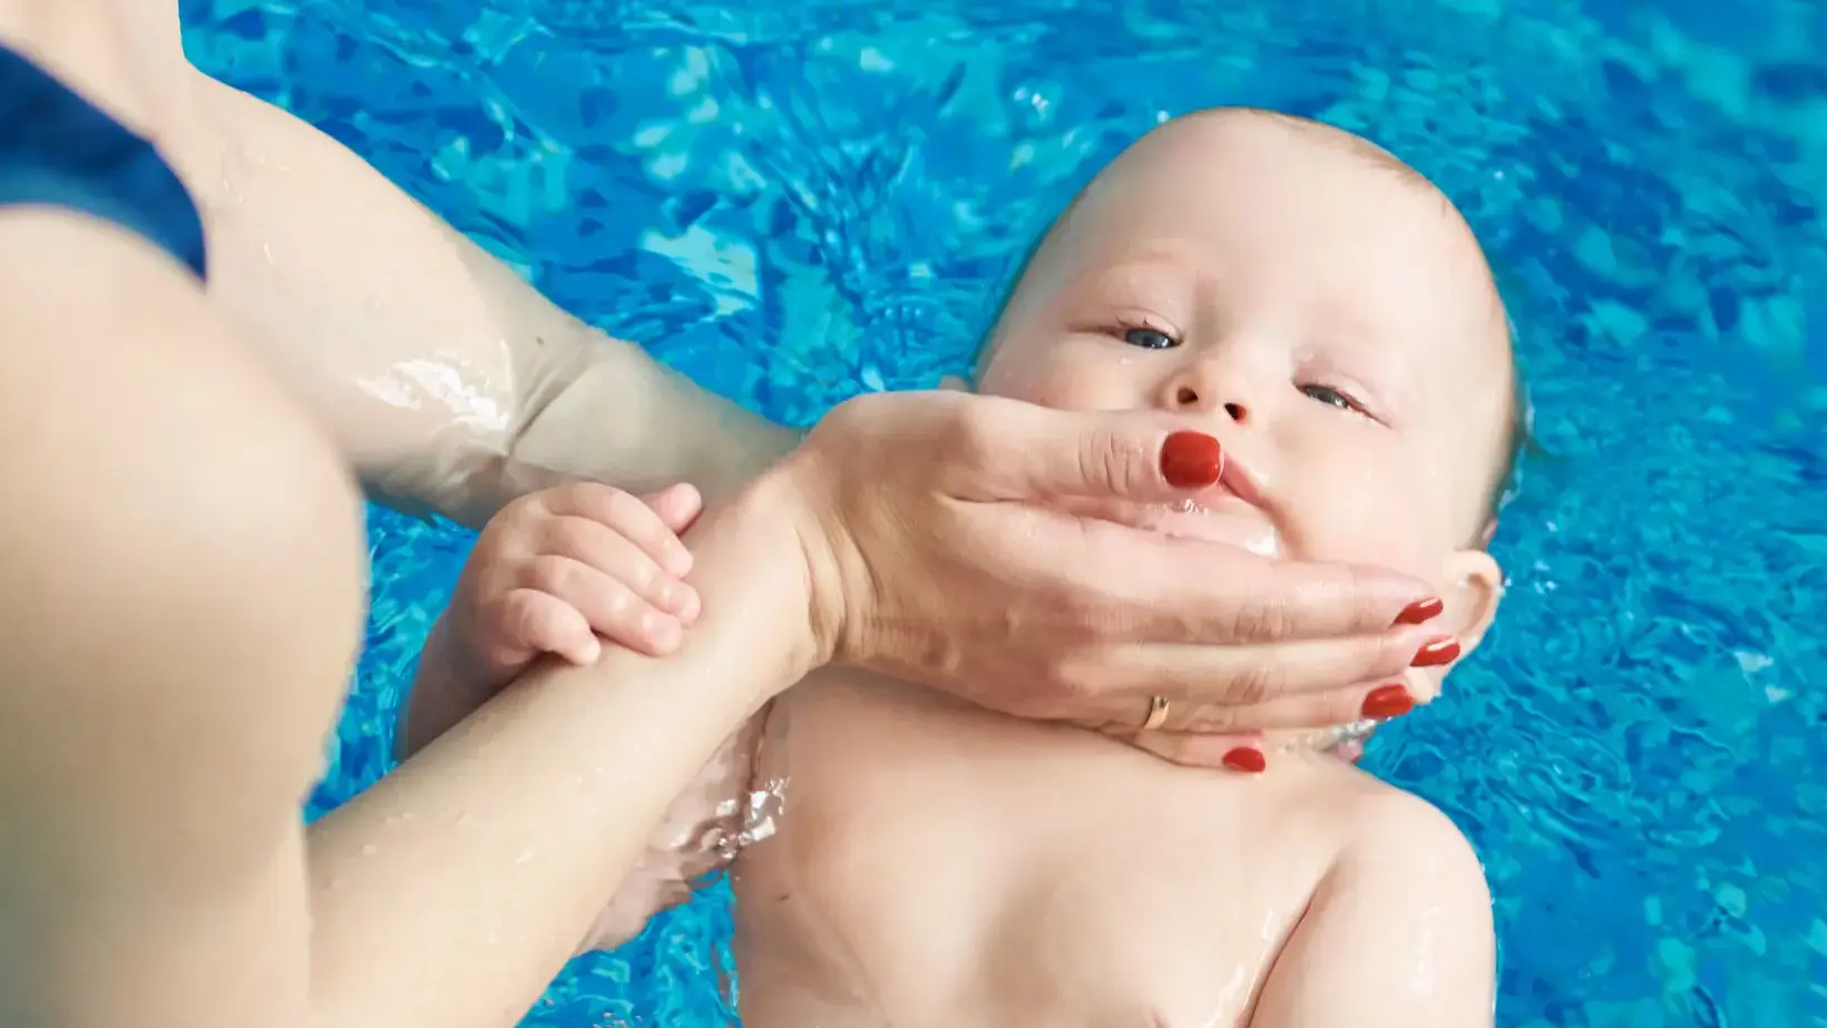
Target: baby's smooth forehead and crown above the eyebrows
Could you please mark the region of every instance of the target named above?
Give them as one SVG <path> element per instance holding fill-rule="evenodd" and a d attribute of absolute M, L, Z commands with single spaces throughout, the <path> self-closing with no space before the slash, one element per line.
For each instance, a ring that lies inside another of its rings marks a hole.
<path fill-rule="evenodd" d="M 1138 256 L 1281 270 L 1334 301 L 1469 301 L 1482 325 L 1496 310 L 1484 252 L 1432 183 L 1365 139 L 1264 111 L 1206 111 L 1140 139 L 1072 199 L 1030 270 L 1082 278 Z"/>

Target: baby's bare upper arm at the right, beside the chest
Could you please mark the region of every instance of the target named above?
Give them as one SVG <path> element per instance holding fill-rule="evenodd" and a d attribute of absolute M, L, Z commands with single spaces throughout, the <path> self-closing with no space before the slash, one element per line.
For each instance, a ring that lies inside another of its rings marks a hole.
<path fill-rule="evenodd" d="M 1484 869 L 1440 811 L 1379 796 L 1275 959 L 1251 1028 L 1489 1028 Z"/>

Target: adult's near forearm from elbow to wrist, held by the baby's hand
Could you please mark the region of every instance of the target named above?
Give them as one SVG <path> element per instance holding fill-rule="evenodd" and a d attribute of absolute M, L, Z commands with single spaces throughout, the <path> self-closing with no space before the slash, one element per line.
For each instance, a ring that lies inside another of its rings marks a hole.
<path fill-rule="evenodd" d="M 314 825 L 322 1024 L 517 1023 L 667 805 L 813 661 L 793 537 L 766 509 L 744 497 L 694 530 L 705 617 L 676 656 L 543 666 Z"/>

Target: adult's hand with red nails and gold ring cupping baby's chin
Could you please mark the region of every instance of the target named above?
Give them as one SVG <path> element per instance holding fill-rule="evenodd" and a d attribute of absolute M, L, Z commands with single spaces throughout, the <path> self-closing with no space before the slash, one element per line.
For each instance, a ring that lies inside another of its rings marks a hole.
<path fill-rule="evenodd" d="M 833 409 L 769 477 L 804 506 L 822 659 L 1217 765 L 1230 747 L 1202 741 L 1361 718 L 1434 635 L 1410 624 L 1434 612 L 1420 579 L 1056 506 L 1184 500 L 1220 460 L 1166 414 L 882 393 Z M 1140 732 L 1156 696 L 1166 719 Z"/>

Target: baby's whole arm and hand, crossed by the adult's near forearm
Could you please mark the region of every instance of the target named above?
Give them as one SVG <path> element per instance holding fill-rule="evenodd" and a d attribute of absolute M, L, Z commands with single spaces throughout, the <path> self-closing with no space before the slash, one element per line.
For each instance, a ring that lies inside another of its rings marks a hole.
<path fill-rule="evenodd" d="M 700 500 L 676 486 L 652 497 L 581 482 L 506 506 L 477 539 L 449 610 L 420 656 L 402 707 L 404 758 L 473 714 L 544 654 L 592 665 L 603 639 L 667 656 L 696 621 L 678 533 Z M 658 628 L 663 626 L 663 628 Z M 658 630 L 656 630 L 658 628 Z M 731 736 L 667 809 L 641 862 L 597 915 L 583 948 L 627 942 L 733 855 L 766 708 Z"/>

